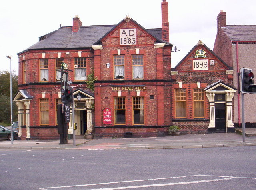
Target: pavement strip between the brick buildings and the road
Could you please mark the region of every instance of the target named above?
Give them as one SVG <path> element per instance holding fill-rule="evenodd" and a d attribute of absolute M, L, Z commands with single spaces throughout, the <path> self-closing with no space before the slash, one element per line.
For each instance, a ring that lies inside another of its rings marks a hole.
<path fill-rule="evenodd" d="M 246 129 L 256 134 L 256 128 Z M 256 146 L 256 136 L 237 133 L 187 134 L 149 138 L 102 138 L 68 140 L 68 144 L 59 144 L 60 140 L 0 140 L 0 149 L 89 149 L 89 150 L 127 150 L 127 149 L 173 149 L 208 148 L 227 146 Z"/>

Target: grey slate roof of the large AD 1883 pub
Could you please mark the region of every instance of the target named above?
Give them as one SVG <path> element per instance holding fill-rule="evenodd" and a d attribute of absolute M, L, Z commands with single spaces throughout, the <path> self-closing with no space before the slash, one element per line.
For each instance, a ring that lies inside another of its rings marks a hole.
<path fill-rule="evenodd" d="M 123 21 L 123 20 L 122 20 Z M 121 22 L 122 22 L 121 21 Z M 80 26 L 78 32 L 72 32 L 72 26 L 60 27 L 58 30 L 50 32 L 44 36 L 39 37 L 39 42 L 30 46 L 26 50 L 18 53 L 22 54 L 28 50 L 42 50 L 42 49 L 61 49 L 61 48 L 91 48 L 92 45 L 99 42 L 99 40 L 108 34 L 116 25 L 94 25 L 94 26 Z M 142 27 L 143 28 L 143 27 Z M 143 28 L 144 29 L 144 28 Z M 160 40 L 162 43 L 170 44 L 161 38 L 162 29 L 153 28 L 145 29 L 148 33 Z"/>

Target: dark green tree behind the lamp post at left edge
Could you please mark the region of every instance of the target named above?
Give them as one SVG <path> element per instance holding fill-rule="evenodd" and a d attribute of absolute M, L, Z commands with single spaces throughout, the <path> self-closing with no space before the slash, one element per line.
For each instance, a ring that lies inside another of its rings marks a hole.
<path fill-rule="evenodd" d="M 18 75 L 12 73 L 12 98 L 18 91 Z M 0 71 L 0 122 L 10 123 L 10 72 Z M 18 108 L 12 102 L 12 120 L 18 120 Z"/>

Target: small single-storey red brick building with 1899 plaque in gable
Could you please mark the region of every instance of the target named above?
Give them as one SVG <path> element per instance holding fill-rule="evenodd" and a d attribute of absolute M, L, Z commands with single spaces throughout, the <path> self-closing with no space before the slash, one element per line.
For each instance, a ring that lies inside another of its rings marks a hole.
<path fill-rule="evenodd" d="M 202 41 L 172 69 L 172 122 L 181 134 L 234 131 L 233 70 Z"/>

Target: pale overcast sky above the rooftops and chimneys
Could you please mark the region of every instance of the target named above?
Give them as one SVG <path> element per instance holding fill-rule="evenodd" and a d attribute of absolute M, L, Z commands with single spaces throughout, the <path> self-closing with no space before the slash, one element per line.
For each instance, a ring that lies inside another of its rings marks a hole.
<path fill-rule="evenodd" d="M 231 24 L 256 24 L 254 0 L 167 0 L 169 6 L 172 68 L 202 40 L 213 49 L 217 32 L 216 17 L 227 12 Z M 83 26 L 118 24 L 126 15 L 144 28 L 161 28 L 162 0 L 8 0 L 0 6 L 0 70 L 18 74 L 18 52 L 38 42 L 38 37 L 72 26 L 80 17 Z M 174 48 L 173 48 L 174 49 Z"/>

